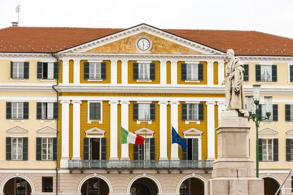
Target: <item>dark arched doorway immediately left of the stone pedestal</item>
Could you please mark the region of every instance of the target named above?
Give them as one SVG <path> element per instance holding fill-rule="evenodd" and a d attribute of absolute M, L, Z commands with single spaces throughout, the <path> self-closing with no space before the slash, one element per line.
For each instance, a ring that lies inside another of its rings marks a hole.
<path fill-rule="evenodd" d="M 205 185 L 198 178 L 187 178 L 180 185 L 180 195 L 204 195 Z"/>

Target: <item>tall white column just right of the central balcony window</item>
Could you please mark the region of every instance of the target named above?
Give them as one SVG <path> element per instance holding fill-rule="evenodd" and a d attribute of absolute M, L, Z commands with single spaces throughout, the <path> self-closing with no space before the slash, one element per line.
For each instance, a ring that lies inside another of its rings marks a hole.
<path fill-rule="evenodd" d="M 160 105 L 160 157 L 167 160 L 167 101 L 159 101 Z"/>

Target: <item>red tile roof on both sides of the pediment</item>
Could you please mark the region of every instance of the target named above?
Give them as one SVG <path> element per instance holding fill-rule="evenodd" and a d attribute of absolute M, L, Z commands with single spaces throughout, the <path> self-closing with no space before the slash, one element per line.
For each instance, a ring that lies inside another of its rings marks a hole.
<path fill-rule="evenodd" d="M 121 28 L 8 27 L 0 52 L 55 53 L 122 31 Z M 165 29 L 174 35 L 236 55 L 293 56 L 293 39 L 257 31 Z"/>

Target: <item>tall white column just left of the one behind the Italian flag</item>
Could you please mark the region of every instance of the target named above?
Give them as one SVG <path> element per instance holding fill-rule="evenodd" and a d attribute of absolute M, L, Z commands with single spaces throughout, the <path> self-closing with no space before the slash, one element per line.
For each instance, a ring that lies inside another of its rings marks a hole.
<path fill-rule="evenodd" d="M 109 160 L 118 160 L 117 141 L 118 141 L 118 111 L 119 101 L 109 101 L 110 104 L 110 158 Z"/>

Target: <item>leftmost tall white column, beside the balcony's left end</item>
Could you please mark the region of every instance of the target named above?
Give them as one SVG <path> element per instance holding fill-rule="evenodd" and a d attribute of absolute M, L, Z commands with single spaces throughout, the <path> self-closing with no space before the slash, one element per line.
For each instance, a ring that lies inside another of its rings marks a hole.
<path fill-rule="evenodd" d="M 69 100 L 61 101 L 62 104 L 62 148 L 60 167 L 68 168 L 69 160 Z"/>

